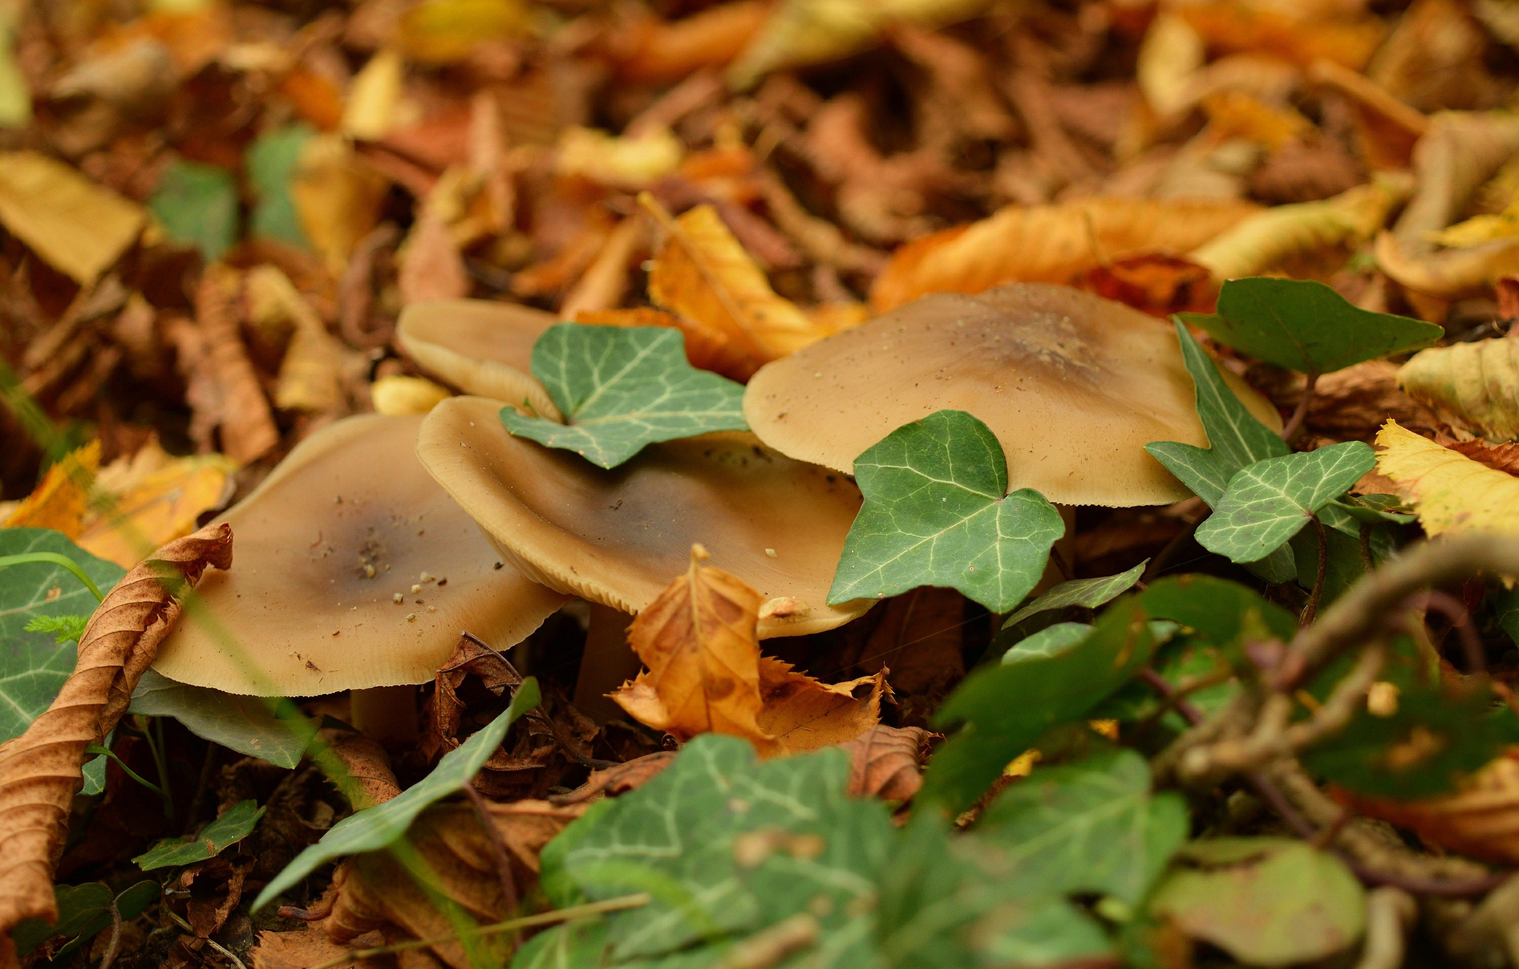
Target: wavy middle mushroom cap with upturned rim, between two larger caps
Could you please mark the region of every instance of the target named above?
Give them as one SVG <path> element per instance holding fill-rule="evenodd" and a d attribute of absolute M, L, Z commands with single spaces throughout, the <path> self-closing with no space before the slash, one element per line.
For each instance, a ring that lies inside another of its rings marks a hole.
<path fill-rule="evenodd" d="M 638 612 L 690 565 L 712 565 L 769 600 L 760 636 L 842 626 L 870 600 L 829 606 L 860 492 L 842 474 L 776 454 L 746 433 L 653 443 L 605 471 L 513 437 L 500 401 L 454 396 L 427 416 L 418 457 L 503 556 L 561 592 Z"/>

